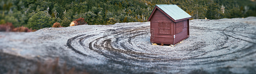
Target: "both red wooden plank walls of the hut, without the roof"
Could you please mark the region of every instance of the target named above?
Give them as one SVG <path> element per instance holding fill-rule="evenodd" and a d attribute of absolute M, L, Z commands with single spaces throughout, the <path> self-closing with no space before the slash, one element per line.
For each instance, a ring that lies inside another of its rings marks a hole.
<path fill-rule="evenodd" d="M 189 20 L 180 20 L 175 23 L 159 9 L 155 9 L 154 14 L 151 16 L 150 41 L 152 43 L 177 44 L 189 37 L 188 30 Z"/>

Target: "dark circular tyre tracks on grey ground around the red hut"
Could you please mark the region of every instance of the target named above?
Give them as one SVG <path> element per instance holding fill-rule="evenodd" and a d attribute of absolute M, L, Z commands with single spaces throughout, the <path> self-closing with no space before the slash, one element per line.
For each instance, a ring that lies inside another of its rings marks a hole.
<path fill-rule="evenodd" d="M 230 61 L 237 61 L 237 59 L 256 53 L 256 50 L 252 50 L 255 49 L 256 43 L 253 42 L 253 40 L 256 38 L 248 36 L 248 34 L 256 34 L 236 31 L 238 28 L 241 30 L 246 27 L 245 25 L 241 26 L 236 24 L 228 26 L 225 29 L 191 27 L 190 29 L 195 29 L 197 31 L 214 30 L 219 32 L 223 37 L 221 39 L 216 39 L 213 43 L 197 41 L 190 46 L 180 48 L 176 48 L 176 46 L 174 47 L 175 49 L 168 46 L 151 45 L 149 42 L 149 26 L 130 28 L 118 27 L 114 30 L 101 30 L 98 32 L 77 35 L 68 39 L 67 46 L 77 54 L 86 57 L 102 59 L 102 57 L 96 56 L 102 55 L 105 59 L 108 59 L 108 64 L 121 64 L 125 66 L 125 68 L 123 68 L 124 70 L 131 70 L 134 67 L 143 69 L 142 71 L 136 71 L 135 73 L 154 73 L 156 72 L 154 69 L 161 69 L 163 73 L 172 73 L 177 70 L 173 68 L 177 67 L 179 70 L 193 70 L 193 68 L 199 69 L 205 66 L 218 68 Z M 107 35 L 104 33 L 107 33 Z M 240 35 L 239 37 L 242 38 L 237 38 L 237 35 Z M 252 41 L 244 38 L 252 39 Z M 236 39 L 246 41 L 252 45 L 243 47 L 235 45 L 225 46 L 227 42 Z M 204 49 L 210 44 L 215 44 L 215 48 Z M 84 51 L 93 51 L 97 54 L 91 54 Z M 226 53 L 223 53 L 223 51 L 226 51 Z"/>

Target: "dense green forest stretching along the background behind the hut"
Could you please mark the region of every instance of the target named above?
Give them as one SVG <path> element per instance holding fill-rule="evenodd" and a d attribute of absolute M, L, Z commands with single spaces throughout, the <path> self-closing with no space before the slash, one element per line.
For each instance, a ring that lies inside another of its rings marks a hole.
<path fill-rule="evenodd" d="M 155 5 L 178 5 L 192 19 L 256 16 L 254 0 L 0 0 L 0 24 L 32 30 L 67 27 L 83 18 L 88 25 L 146 22 Z"/>

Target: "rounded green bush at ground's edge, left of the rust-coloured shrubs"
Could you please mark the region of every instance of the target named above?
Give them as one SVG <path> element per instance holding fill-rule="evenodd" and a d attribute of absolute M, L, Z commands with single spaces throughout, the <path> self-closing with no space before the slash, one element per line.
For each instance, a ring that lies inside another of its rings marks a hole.
<path fill-rule="evenodd" d="M 40 11 L 33 15 L 28 20 L 28 28 L 39 30 L 41 28 L 51 27 L 53 24 L 51 16 L 47 13 L 47 11 Z"/>

